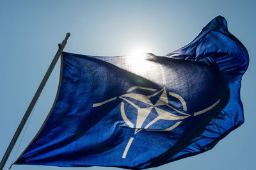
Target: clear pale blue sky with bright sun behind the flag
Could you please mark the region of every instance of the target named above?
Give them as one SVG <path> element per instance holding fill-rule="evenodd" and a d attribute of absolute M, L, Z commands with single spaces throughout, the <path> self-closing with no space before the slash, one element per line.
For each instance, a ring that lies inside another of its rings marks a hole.
<path fill-rule="evenodd" d="M 243 43 L 250 57 L 241 87 L 245 122 L 212 150 L 152 169 L 255 169 L 255 6 L 255 1 L 219 0 L 0 1 L 0 158 L 67 32 L 71 33 L 65 47 L 67 52 L 122 56 L 143 51 L 163 56 L 187 45 L 211 19 L 222 15 L 227 19 L 230 33 Z M 4 169 L 19 157 L 41 127 L 54 102 L 59 73 L 60 61 Z M 12 167 L 13 170 L 35 168 L 118 169 Z"/>

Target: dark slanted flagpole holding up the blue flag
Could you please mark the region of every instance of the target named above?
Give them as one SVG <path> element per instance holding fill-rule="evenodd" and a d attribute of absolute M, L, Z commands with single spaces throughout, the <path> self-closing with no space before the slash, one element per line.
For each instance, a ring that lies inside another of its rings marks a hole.
<path fill-rule="evenodd" d="M 49 66 L 47 72 L 45 73 L 44 78 L 43 78 L 42 82 L 40 83 L 38 89 L 36 90 L 36 93 L 35 93 L 32 101 L 31 101 L 31 103 L 29 104 L 29 107 L 28 107 L 26 113 L 24 114 L 22 120 L 20 121 L 19 127 L 17 128 L 15 134 L 13 135 L 11 143 L 9 144 L 6 152 L 4 153 L 4 157 L 1 160 L 1 164 L 0 164 L 0 170 L 3 169 L 8 157 L 10 156 L 10 153 L 12 152 L 12 149 L 13 149 L 13 147 L 14 147 L 14 145 L 15 145 L 15 143 L 16 143 L 16 141 L 17 141 L 17 139 L 18 139 L 18 137 L 19 137 L 19 135 L 22 131 L 22 128 L 24 128 L 24 125 L 26 124 L 26 121 L 28 120 L 31 111 L 34 108 L 34 106 L 36 104 L 36 101 L 38 100 L 42 90 L 44 89 L 44 86 L 45 86 L 47 80 L 49 79 L 54 66 L 56 65 L 58 59 L 60 58 L 61 51 L 64 49 L 65 45 L 67 44 L 67 40 L 68 40 L 69 36 L 70 36 L 70 33 L 67 33 L 65 39 L 62 41 L 61 44 L 59 44 L 59 49 L 56 52 L 54 58 L 52 59 L 51 65 Z"/>

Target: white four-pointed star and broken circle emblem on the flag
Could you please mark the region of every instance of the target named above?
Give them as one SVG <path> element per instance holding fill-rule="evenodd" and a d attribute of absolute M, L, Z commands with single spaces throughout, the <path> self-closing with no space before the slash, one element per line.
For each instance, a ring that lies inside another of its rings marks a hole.
<path fill-rule="evenodd" d="M 125 123 L 129 127 L 135 128 L 134 134 L 137 134 L 138 132 L 140 132 L 143 129 L 150 130 L 150 131 L 170 131 L 173 128 L 177 127 L 182 121 L 178 121 L 177 123 L 175 123 L 175 125 L 172 125 L 172 127 L 169 127 L 169 128 L 155 129 L 155 130 L 148 129 L 148 128 L 151 125 L 153 125 L 154 123 L 156 123 L 157 120 L 173 120 L 173 121 L 174 120 L 183 120 L 190 116 L 189 114 L 186 114 L 185 112 L 179 111 L 178 109 L 176 109 L 175 107 L 173 107 L 172 105 L 170 105 L 168 103 L 168 96 L 167 96 L 165 87 L 163 89 L 157 91 L 157 89 L 134 86 L 134 87 L 130 88 L 127 92 L 134 91 L 134 89 L 147 89 L 149 91 L 156 91 L 154 94 L 148 95 L 148 96 L 142 95 L 139 93 L 127 93 L 127 94 L 120 96 L 120 98 L 122 98 L 124 101 L 131 104 L 134 108 L 136 108 L 138 110 L 136 127 L 134 127 L 134 124 L 127 118 L 127 116 L 125 114 L 124 102 L 121 102 L 122 118 L 124 119 Z M 161 96 L 157 100 L 156 104 L 152 104 L 152 102 L 150 101 L 150 98 L 156 97 L 156 95 L 159 95 L 159 93 L 161 94 Z M 180 101 L 180 103 L 182 104 L 182 107 L 183 107 L 183 111 L 187 111 L 186 102 L 184 101 L 184 99 L 182 97 L 180 97 L 180 95 L 177 95 L 175 93 L 169 93 L 169 94 L 172 95 L 173 97 L 177 98 Z M 143 103 L 147 104 L 148 107 L 141 108 L 140 106 L 136 105 L 135 102 L 132 102 L 131 100 L 129 100 L 129 98 L 137 100 L 139 102 L 143 102 Z M 162 106 L 162 105 L 166 105 L 167 107 L 170 107 L 172 110 L 182 114 L 182 116 L 177 116 L 176 114 L 173 114 L 170 111 L 161 109 L 159 106 Z M 150 123 L 148 123 L 144 128 L 141 128 L 144 121 L 147 119 L 148 114 L 150 114 L 150 112 L 152 111 L 153 108 L 156 110 L 158 116 L 154 120 L 150 121 Z"/>

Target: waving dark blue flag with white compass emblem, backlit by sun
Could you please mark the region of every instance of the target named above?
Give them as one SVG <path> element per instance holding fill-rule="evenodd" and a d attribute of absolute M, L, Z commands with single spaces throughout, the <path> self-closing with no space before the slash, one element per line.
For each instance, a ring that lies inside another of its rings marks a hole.
<path fill-rule="evenodd" d="M 221 16 L 166 56 L 63 52 L 51 112 L 14 164 L 144 169 L 210 150 L 244 122 L 247 67 Z"/>

